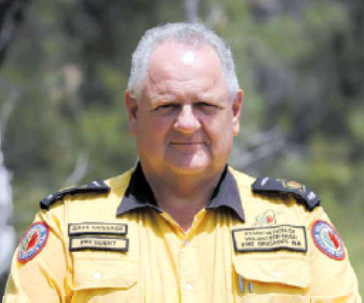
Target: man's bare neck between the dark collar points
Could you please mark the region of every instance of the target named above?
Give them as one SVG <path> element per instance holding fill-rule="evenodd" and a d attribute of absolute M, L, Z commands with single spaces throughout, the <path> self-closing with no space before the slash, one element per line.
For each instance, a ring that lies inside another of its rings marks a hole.
<path fill-rule="evenodd" d="M 222 172 L 214 177 L 174 176 L 168 178 L 145 177 L 152 188 L 159 207 L 187 231 L 196 214 L 207 206 Z"/>

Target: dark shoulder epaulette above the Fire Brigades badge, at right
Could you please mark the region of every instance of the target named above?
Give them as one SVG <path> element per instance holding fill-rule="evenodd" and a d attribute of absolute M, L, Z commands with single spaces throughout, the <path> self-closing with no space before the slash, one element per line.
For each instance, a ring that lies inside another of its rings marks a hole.
<path fill-rule="evenodd" d="M 320 204 L 320 198 L 311 191 L 307 186 L 283 179 L 273 179 L 268 177 L 259 177 L 253 184 L 254 193 L 277 193 L 293 194 L 299 202 L 303 202 L 311 211 Z"/>

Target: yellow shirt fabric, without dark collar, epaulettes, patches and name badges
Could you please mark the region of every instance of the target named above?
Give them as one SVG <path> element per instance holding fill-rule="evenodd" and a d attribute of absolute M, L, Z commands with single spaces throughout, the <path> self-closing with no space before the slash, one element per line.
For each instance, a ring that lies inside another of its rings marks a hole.
<path fill-rule="evenodd" d="M 348 256 L 333 260 L 312 241 L 310 227 L 330 222 L 321 207 L 309 212 L 293 199 L 254 195 L 253 179 L 232 169 L 245 222 L 226 208 L 200 211 L 185 233 L 166 213 L 143 208 L 116 216 L 131 171 L 106 181 L 109 194 L 67 196 L 35 222 L 50 229 L 44 249 L 20 264 L 16 254 L 5 303 L 10 302 L 361 302 Z M 308 252 L 236 252 L 232 230 L 259 226 L 262 214 L 276 225 L 304 226 Z M 68 224 L 125 223 L 127 252 L 70 251 Z"/>

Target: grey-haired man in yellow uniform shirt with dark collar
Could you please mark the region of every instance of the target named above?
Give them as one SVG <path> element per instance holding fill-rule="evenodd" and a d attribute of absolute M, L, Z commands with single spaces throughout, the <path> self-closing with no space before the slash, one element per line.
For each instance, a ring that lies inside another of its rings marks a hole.
<path fill-rule="evenodd" d="M 140 162 L 41 201 L 5 302 L 361 302 L 317 196 L 227 166 L 242 99 L 215 33 L 147 31 L 125 92 Z"/>

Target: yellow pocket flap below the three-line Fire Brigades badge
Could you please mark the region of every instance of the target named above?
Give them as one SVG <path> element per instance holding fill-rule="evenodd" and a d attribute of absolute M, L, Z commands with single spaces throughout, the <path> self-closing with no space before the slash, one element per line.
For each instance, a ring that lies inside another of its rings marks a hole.
<path fill-rule="evenodd" d="M 247 280 L 301 288 L 308 287 L 311 280 L 309 262 L 299 256 L 238 257 L 234 265 L 236 272 Z"/>

